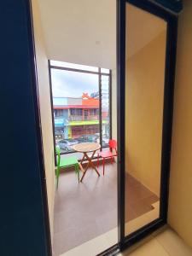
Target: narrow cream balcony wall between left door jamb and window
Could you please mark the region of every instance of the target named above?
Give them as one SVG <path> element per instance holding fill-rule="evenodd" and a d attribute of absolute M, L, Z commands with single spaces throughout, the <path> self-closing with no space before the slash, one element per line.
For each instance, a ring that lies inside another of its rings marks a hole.
<path fill-rule="evenodd" d="M 53 147 L 52 117 L 49 95 L 48 59 L 44 48 L 44 37 L 41 29 L 41 20 L 38 12 L 37 0 L 32 0 L 32 15 L 35 36 L 35 48 L 38 69 L 38 92 L 40 102 L 40 116 L 44 145 L 44 165 L 46 174 L 49 223 L 51 235 L 53 234 L 53 212 L 55 195 L 55 162 Z"/>

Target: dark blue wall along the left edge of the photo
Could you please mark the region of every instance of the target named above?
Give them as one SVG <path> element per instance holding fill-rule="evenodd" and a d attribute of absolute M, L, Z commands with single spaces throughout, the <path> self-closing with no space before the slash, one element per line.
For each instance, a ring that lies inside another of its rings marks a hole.
<path fill-rule="evenodd" d="M 0 2 L 1 256 L 48 255 L 26 3 Z"/>

